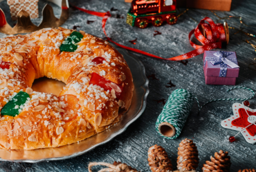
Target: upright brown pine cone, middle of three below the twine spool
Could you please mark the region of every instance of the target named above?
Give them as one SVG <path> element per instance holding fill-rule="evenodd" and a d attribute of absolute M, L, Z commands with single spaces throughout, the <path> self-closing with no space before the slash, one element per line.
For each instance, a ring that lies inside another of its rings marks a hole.
<path fill-rule="evenodd" d="M 185 138 L 181 141 L 178 148 L 178 159 L 177 168 L 179 171 L 192 171 L 196 170 L 199 164 L 198 151 L 196 144 L 193 140 L 188 140 Z"/>

